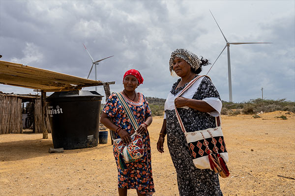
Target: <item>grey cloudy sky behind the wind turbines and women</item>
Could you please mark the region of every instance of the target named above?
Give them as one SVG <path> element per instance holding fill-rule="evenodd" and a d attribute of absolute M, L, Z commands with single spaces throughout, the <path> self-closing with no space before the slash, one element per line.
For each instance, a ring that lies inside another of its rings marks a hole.
<path fill-rule="evenodd" d="M 209 9 L 229 42 L 273 43 L 231 46 L 233 101 L 261 98 L 262 87 L 264 98 L 295 101 L 294 0 L 0 0 L 0 60 L 87 78 L 84 43 L 95 61 L 114 55 L 97 67 L 99 80 L 116 81 L 111 91 L 122 90 L 124 72 L 137 69 L 145 80 L 138 91 L 166 98 L 177 80 L 168 65 L 173 50 L 213 63 L 225 47 Z M 208 75 L 228 101 L 226 50 Z M 2 84 L 0 91 L 34 94 Z"/>

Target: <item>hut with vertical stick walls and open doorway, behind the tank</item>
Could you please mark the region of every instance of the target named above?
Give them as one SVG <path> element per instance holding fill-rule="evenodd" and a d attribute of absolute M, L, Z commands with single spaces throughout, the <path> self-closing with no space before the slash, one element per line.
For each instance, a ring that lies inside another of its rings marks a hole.
<path fill-rule="evenodd" d="M 33 132 L 42 133 L 42 107 L 40 96 L 0 93 L 0 134 L 23 133 L 22 102 L 31 102 L 33 109 Z M 46 128 L 51 132 L 49 118 L 46 117 Z"/>

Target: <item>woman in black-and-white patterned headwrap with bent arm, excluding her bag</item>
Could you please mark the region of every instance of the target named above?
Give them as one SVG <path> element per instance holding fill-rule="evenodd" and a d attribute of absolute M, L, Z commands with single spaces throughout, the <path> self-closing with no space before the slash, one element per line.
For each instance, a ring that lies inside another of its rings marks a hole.
<path fill-rule="evenodd" d="M 159 152 L 167 144 L 177 172 L 180 196 L 222 196 L 218 174 L 209 169 L 195 167 L 186 138 L 177 121 L 175 107 L 187 132 L 215 127 L 215 117 L 220 115 L 222 103 L 215 86 L 206 76 L 199 78 L 181 97 L 177 95 L 202 71 L 208 60 L 186 49 L 176 49 L 169 61 L 170 72 L 180 78 L 173 84 L 165 102 L 165 115 L 157 142 Z"/>

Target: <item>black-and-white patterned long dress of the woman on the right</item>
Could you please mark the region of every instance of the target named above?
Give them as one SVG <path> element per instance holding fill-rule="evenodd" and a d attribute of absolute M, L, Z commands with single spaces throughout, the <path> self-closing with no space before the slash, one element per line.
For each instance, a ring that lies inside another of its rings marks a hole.
<path fill-rule="evenodd" d="M 200 78 L 197 91 L 192 92 L 193 99 L 218 98 L 219 94 L 207 78 Z M 171 94 L 177 95 L 183 87 L 177 88 L 180 79 L 173 85 Z M 188 91 L 188 90 L 187 90 Z M 169 98 L 169 96 L 168 96 Z M 200 112 L 192 108 L 177 108 L 177 111 L 187 132 L 204 130 L 215 127 L 215 117 L 208 113 Z M 222 196 L 218 174 L 209 169 L 195 167 L 186 138 L 177 121 L 175 110 L 165 109 L 167 120 L 167 143 L 170 155 L 177 172 L 177 183 L 180 196 Z"/>

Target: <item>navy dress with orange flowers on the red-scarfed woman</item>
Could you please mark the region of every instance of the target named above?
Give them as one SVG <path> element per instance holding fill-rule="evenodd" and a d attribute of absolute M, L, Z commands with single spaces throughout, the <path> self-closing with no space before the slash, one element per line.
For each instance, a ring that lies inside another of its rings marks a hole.
<path fill-rule="evenodd" d="M 137 123 L 140 125 L 144 123 L 149 116 L 151 116 L 151 111 L 148 107 L 148 101 L 145 96 L 141 93 L 138 93 L 138 95 L 139 99 L 137 102 L 132 101 L 125 96 L 123 96 L 123 98 L 127 101 Z M 135 130 L 133 129 L 115 93 L 109 97 L 102 111 L 113 119 L 114 124 L 121 127 L 129 134 L 134 133 Z M 119 138 L 117 133 L 116 138 Z M 141 194 L 151 196 L 155 190 L 151 170 L 151 152 L 148 132 L 143 134 L 143 142 L 144 147 L 146 148 L 144 156 L 135 162 L 126 163 L 126 170 L 119 169 L 118 152 L 116 151 L 115 146 L 113 146 L 114 156 L 118 168 L 118 188 L 136 189 Z"/>

